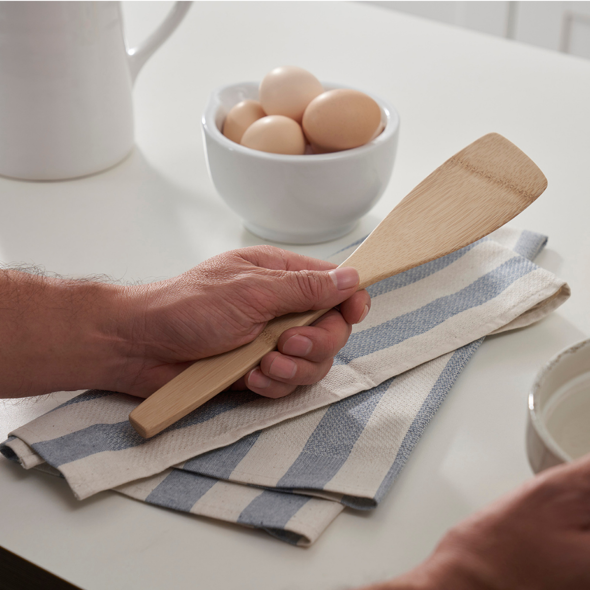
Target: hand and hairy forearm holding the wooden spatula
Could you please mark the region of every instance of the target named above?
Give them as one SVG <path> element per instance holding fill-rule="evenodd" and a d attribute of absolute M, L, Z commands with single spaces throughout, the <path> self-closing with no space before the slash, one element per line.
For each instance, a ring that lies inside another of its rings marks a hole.
<path fill-rule="evenodd" d="M 280 397 L 322 379 L 371 301 L 358 274 L 257 246 L 140 286 L 0 270 L 0 397 L 110 389 L 146 397 L 195 360 L 254 338 L 288 312 L 330 309 L 286 330 L 234 388 Z"/>

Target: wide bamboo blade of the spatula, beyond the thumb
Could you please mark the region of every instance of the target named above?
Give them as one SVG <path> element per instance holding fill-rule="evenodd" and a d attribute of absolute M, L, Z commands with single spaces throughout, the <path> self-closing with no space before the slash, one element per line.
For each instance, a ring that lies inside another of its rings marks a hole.
<path fill-rule="evenodd" d="M 359 289 L 450 254 L 497 230 L 547 188 L 513 143 L 490 133 L 419 183 L 349 256 Z M 376 248 L 394 240 L 395 247 Z"/>

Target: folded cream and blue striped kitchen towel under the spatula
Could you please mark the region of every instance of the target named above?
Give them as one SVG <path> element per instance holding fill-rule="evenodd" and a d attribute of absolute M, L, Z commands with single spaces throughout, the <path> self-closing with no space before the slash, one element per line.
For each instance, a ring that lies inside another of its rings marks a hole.
<path fill-rule="evenodd" d="M 286 398 L 224 392 L 146 441 L 127 421 L 139 400 L 88 391 L 0 451 L 60 474 L 78 499 L 115 489 L 309 545 L 343 506 L 377 506 L 484 336 L 568 298 L 530 261 L 545 243 L 501 228 L 373 285 L 371 312 L 326 378 Z"/>

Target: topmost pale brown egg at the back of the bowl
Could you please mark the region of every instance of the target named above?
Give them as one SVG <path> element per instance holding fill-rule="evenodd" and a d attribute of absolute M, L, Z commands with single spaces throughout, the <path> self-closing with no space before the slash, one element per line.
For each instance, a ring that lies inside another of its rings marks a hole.
<path fill-rule="evenodd" d="M 320 81 L 307 70 L 283 65 L 264 76 L 258 97 L 266 114 L 282 114 L 301 123 L 307 105 L 323 91 Z"/>

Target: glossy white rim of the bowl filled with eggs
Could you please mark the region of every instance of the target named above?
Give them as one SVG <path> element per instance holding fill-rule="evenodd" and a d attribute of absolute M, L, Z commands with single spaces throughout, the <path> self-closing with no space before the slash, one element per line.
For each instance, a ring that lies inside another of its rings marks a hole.
<path fill-rule="evenodd" d="M 219 86 L 217 89 L 212 91 L 212 93 L 209 95 L 207 106 L 205 106 L 205 110 L 201 117 L 201 125 L 204 129 L 204 132 L 208 133 L 208 135 L 212 139 L 214 139 L 217 143 L 224 146 L 224 148 L 230 151 L 243 153 L 244 155 L 248 155 L 253 158 L 261 158 L 274 162 L 304 163 L 326 162 L 330 160 L 355 158 L 356 156 L 360 156 L 364 153 L 378 149 L 380 145 L 388 142 L 388 140 L 391 139 L 391 137 L 394 136 L 399 130 L 399 113 L 397 112 L 395 107 L 392 106 L 392 104 L 390 104 L 388 101 L 383 100 L 380 97 L 375 96 L 374 94 L 366 92 L 365 90 L 359 90 L 358 88 L 352 86 L 322 81 L 322 86 L 324 87 L 324 89 L 326 89 L 325 91 L 335 90 L 339 88 L 344 88 L 348 90 L 359 90 L 360 92 L 367 94 L 373 100 L 375 100 L 375 102 L 379 105 L 379 108 L 382 109 L 382 112 L 385 113 L 386 124 L 383 128 L 383 131 L 379 133 L 379 135 L 375 137 L 375 139 L 371 140 L 368 143 L 365 143 L 365 145 L 359 146 L 358 148 L 341 150 L 340 152 L 291 155 L 282 153 L 262 152 L 261 150 L 247 148 L 246 146 L 240 145 L 240 143 L 232 142 L 231 139 L 228 139 L 227 137 L 225 137 L 225 135 L 223 135 L 223 133 L 221 133 L 221 131 L 217 127 L 217 124 L 215 123 L 215 115 L 217 114 L 219 106 L 221 106 L 219 95 L 222 92 L 237 87 L 255 87 L 257 89 L 258 86 L 260 86 L 259 82 L 247 81 L 238 82 L 234 84 L 225 84 L 224 86 Z"/>

